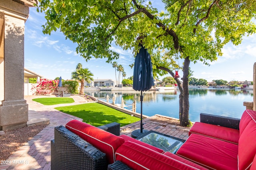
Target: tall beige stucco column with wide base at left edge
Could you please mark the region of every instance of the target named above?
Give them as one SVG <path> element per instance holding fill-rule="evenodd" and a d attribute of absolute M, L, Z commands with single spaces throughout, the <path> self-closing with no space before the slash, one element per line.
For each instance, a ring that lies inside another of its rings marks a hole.
<path fill-rule="evenodd" d="M 0 0 L 0 13 L 4 14 L 4 67 L 0 57 L 0 77 L 4 77 L 0 84 L 1 89 L 4 86 L 4 96 L 0 99 L 4 100 L 0 105 L 0 130 L 8 130 L 24 127 L 28 121 L 28 104 L 24 100 L 24 28 L 29 8 L 24 3 Z"/>

